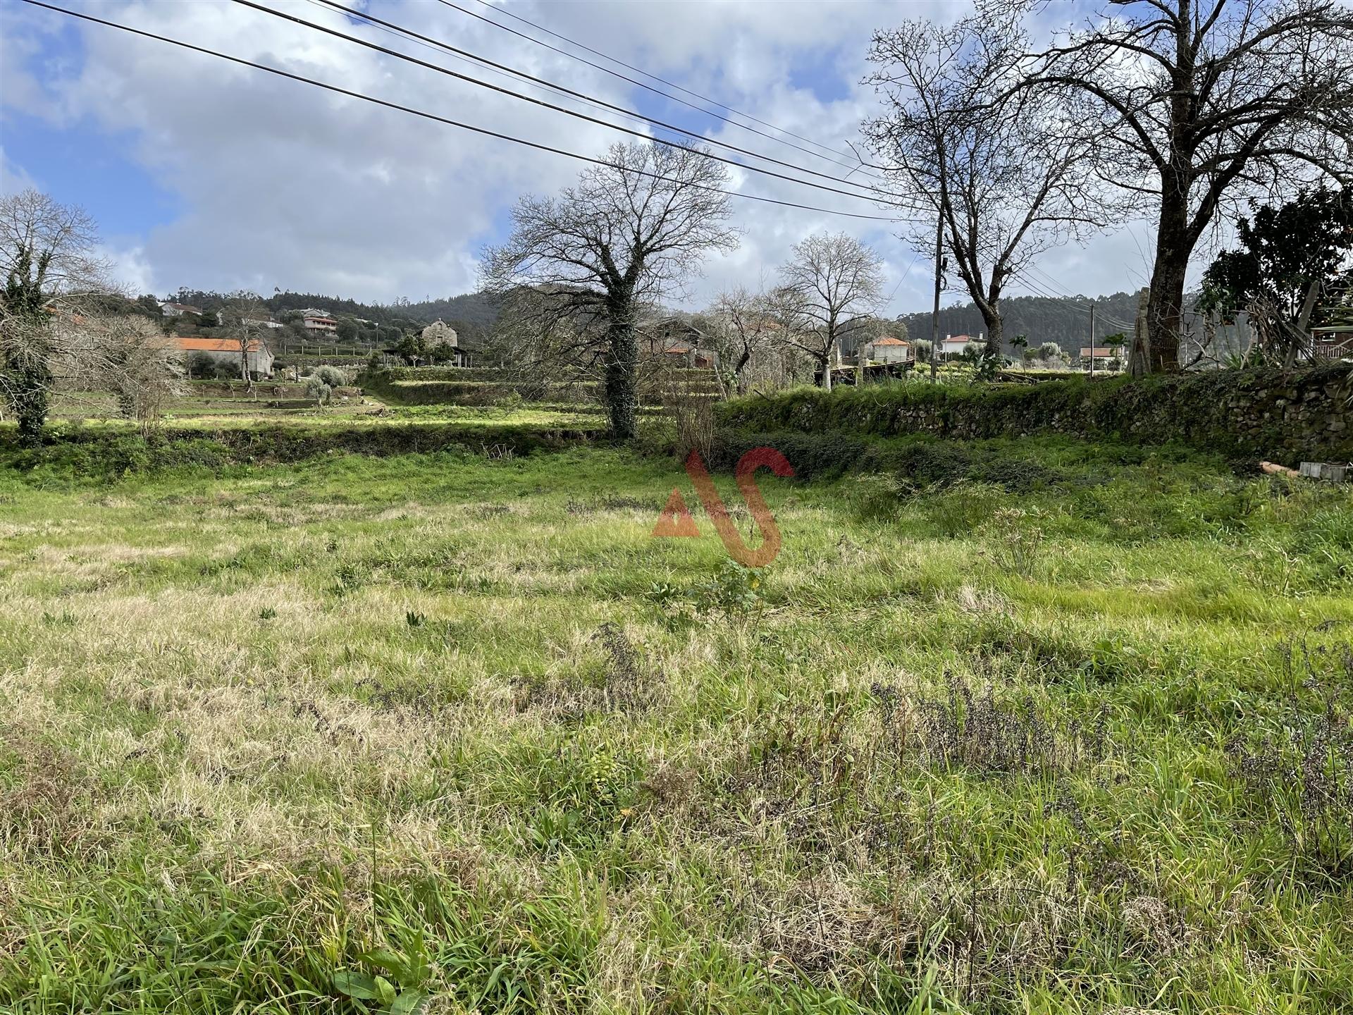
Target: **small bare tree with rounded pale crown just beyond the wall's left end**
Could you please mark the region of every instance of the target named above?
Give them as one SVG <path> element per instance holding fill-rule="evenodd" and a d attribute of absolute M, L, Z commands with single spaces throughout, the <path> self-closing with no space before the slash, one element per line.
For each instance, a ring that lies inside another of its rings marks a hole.
<path fill-rule="evenodd" d="M 832 355 L 842 338 L 874 315 L 882 300 L 882 258 L 846 233 L 810 235 L 794 246 L 779 269 L 790 313 L 805 326 L 787 329 L 781 341 L 802 349 L 832 387 Z"/>

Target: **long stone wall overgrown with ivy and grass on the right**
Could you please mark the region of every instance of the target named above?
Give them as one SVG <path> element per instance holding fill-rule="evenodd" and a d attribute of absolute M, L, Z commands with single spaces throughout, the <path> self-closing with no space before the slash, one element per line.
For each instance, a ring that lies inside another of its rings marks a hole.
<path fill-rule="evenodd" d="M 1019 437 L 1065 433 L 1138 444 L 1178 441 L 1277 461 L 1353 460 L 1353 371 L 1335 364 L 1176 374 L 1142 380 L 1070 379 L 957 387 L 912 382 L 863 388 L 794 388 L 717 409 L 748 432 Z"/>

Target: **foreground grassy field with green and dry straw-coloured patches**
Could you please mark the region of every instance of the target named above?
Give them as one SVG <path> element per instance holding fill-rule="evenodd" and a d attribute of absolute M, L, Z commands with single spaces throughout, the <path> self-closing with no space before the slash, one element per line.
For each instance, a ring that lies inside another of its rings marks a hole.
<path fill-rule="evenodd" d="M 0 463 L 0 1008 L 1346 1010 L 1353 491 L 905 447 Z"/>

